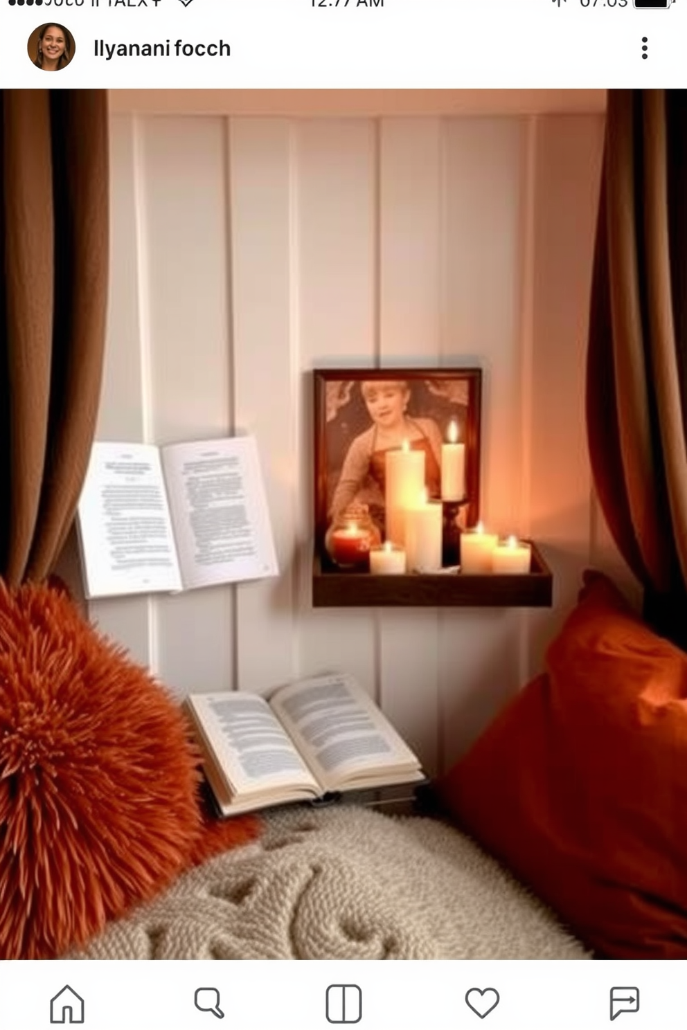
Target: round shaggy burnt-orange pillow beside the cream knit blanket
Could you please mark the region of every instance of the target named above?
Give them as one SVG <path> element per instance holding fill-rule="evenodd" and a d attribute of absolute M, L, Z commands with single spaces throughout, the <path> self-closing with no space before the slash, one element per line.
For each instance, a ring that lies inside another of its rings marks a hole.
<path fill-rule="evenodd" d="M 64 590 L 0 581 L 0 959 L 59 956 L 184 867 L 208 825 L 184 717 Z"/>

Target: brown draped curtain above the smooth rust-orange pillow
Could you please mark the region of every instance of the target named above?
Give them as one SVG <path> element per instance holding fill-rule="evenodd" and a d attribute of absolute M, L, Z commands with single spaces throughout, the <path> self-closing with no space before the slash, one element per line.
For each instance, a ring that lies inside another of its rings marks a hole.
<path fill-rule="evenodd" d="M 687 646 L 687 95 L 609 91 L 587 356 L 592 474 L 645 615 Z"/>

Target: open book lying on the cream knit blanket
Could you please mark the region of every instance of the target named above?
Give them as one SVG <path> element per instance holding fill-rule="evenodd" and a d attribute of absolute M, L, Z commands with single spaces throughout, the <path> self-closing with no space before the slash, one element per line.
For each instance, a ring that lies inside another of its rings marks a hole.
<path fill-rule="evenodd" d="M 203 768 L 225 816 L 425 780 L 417 757 L 348 675 L 275 690 L 191 694 Z"/>

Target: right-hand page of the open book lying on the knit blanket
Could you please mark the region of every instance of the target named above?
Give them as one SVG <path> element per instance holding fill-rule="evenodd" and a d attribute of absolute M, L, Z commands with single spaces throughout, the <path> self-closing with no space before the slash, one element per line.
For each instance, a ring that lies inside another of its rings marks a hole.
<path fill-rule="evenodd" d="M 280 687 L 270 703 L 328 790 L 357 772 L 419 768 L 405 741 L 349 676 Z"/>

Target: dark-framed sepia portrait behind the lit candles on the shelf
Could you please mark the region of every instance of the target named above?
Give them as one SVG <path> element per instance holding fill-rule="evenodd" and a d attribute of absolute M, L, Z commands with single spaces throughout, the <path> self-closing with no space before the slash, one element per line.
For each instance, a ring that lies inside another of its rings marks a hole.
<path fill-rule="evenodd" d="M 457 525 L 477 523 L 480 369 L 316 369 L 313 377 L 320 553 L 351 506 L 369 513 L 382 540 L 394 540 L 398 468 L 406 462 L 421 470 L 413 483 L 427 500 L 454 506 Z"/>

